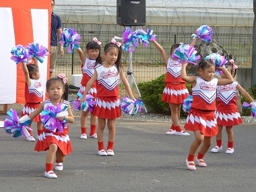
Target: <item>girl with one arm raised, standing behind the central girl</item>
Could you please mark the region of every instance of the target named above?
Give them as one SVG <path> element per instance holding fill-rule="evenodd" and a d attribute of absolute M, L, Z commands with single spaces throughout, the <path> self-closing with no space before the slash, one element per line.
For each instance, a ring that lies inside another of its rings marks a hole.
<path fill-rule="evenodd" d="M 92 75 L 94 74 L 94 65 L 97 65 L 98 63 L 101 63 L 100 59 L 100 44 L 101 42 L 97 40 L 96 37 L 93 38 L 91 42 L 88 42 L 86 44 L 86 54 L 88 57 L 84 57 L 84 53 L 81 48 L 77 49 L 77 52 L 79 54 L 79 58 L 82 61 L 82 81 L 81 81 L 81 88 L 79 92 L 81 94 L 84 93 L 84 90 L 86 89 L 86 85 L 88 84 L 88 81 L 91 79 Z M 96 97 L 96 82 L 92 85 L 92 88 L 89 90 L 89 94 Z M 87 117 L 88 117 L 89 111 L 82 111 L 81 113 L 81 139 L 87 139 Z M 97 133 L 96 133 L 96 125 L 97 123 L 97 117 L 92 115 L 90 116 L 90 137 L 97 139 Z"/>

